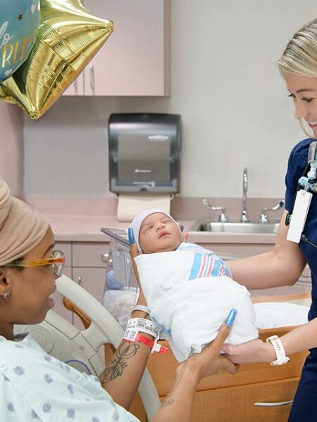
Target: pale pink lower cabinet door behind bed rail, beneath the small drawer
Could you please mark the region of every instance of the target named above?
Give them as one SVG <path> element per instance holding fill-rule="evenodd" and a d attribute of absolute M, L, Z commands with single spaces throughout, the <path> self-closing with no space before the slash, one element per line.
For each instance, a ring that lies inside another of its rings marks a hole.
<path fill-rule="evenodd" d="M 104 294 L 105 278 L 105 268 L 73 268 L 73 280 L 82 286 L 82 288 L 85 288 L 85 290 L 99 300 L 99 302 L 101 302 L 102 295 Z M 77 315 L 74 315 L 74 325 L 78 328 L 82 328 L 82 323 Z"/>

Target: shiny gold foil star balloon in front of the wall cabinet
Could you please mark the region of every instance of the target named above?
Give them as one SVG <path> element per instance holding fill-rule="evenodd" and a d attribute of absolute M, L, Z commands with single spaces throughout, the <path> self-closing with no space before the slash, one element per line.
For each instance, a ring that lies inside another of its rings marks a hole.
<path fill-rule="evenodd" d="M 0 101 L 38 119 L 63 94 L 113 32 L 80 0 L 40 0 L 41 23 L 27 60 L 0 83 Z"/>

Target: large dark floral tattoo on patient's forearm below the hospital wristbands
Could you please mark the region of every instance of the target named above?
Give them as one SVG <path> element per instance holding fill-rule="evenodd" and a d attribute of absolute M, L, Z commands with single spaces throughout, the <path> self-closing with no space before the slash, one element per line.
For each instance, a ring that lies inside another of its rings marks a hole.
<path fill-rule="evenodd" d="M 134 357 L 138 349 L 139 345 L 136 345 L 135 343 L 130 343 L 128 341 L 120 343 L 109 366 L 101 374 L 101 384 L 106 384 L 108 381 L 113 381 L 118 378 L 118 376 L 121 376 L 123 374 L 123 369 L 128 366 L 125 361 Z"/>

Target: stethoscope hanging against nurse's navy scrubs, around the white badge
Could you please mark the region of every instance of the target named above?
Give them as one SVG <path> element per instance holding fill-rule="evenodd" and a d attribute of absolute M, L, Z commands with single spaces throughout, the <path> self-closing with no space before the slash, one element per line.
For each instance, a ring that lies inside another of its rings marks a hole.
<path fill-rule="evenodd" d="M 302 177 L 299 178 L 297 191 L 304 188 L 305 191 L 310 191 L 311 193 L 317 192 L 317 141 L 311 142 L 309 145 L 309 155 L 307 158 L 307 164 L 302 174 Z M 295 196 L 296 198 L 296 196 Z M 295 202 L 295 201 L 294 201 Z M 294 203 L 293 203 L 294 208 Z M 287 212 L 285 218 L 285 225 L 288 226 L 292 219 L 292 211 Z M 302 234 L 301 241 L 304 243 L 309 243 L 313 248 L 317 248 L 315 243 L 311 242 L 306 234 Z"/>

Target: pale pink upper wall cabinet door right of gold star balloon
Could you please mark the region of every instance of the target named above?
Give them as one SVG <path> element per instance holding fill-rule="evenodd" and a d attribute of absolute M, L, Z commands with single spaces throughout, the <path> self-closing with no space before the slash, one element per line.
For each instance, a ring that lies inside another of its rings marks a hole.
<path fill-rule="evenodd" d="M 169 95 L 169 0 L 85 0 L 85 7 L 114 24 L 85 69 L 85 95 Z"/>

